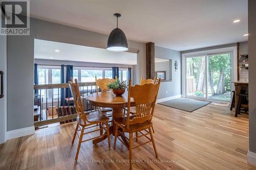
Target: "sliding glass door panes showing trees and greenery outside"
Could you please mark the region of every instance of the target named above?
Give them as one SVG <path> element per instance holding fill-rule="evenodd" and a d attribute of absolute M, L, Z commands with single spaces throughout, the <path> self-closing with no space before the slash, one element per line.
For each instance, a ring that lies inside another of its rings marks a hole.
<path fill-rule="evenodd" d="M 185 96 L 210 101 L 231 100 L 231 53 L 185 57 Z"/>

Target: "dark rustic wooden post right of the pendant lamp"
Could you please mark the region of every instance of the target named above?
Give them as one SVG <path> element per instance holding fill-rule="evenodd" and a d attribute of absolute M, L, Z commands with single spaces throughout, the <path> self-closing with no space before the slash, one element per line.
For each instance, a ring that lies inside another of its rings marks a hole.
<path fill-rule="evenodd" d="M 146 43 L 146 79 L 155 78 L 155 43 Z"/>

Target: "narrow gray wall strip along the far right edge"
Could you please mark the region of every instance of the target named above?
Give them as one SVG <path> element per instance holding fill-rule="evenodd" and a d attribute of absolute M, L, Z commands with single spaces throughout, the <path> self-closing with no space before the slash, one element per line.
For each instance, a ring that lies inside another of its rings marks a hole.
<path fill-rule="evenodd" d="M 249 151 L 256 153 L 256 1 L 248 1 L 249 33 Z"/>

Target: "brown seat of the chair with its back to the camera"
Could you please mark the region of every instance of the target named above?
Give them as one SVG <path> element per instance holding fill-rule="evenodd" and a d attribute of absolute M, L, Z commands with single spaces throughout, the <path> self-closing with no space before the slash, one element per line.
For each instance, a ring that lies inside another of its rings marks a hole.
<path fill-rule="evenodd" d="M 133 117 L 135 117 L 135 116 L 132 115 L 130 117 L 130 119 L 132 119 Z M 125 125 L 126 124 L 126 120 L 127 120 L 127 117 L 121 117 L 121 118 L 115 119 L 114 122 L 116 124 L 119 124 L 119 125 Z M 130 125 L 129 129 L 127 129 L 127 127 L 124 126 L 123 130 L 125 132 L 132 133 L 132 132 L 138 132 L 138 131 L 142 131 L 142 130 L 148 129 L 151 126 L 152 126 L 152 123 L 146 121 L 146 122 L 141 123 L 141 124 Z"/>

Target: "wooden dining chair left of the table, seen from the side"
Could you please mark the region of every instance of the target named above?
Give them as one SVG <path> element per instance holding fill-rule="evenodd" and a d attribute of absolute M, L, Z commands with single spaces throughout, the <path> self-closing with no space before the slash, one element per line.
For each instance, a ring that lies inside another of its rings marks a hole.
<path fill-rule="evenodd" d="M 76 135 L 78 135 L 79 142 L 78 142 L 75 160 L 77 160 L 77 158 L 78 158 L 78 154 L 79 154 L 82 142 L 92 140 L 92 139 L 95 139 L 100 136 L 104 136 L 104 135 L 108 136 L 109 149 L 110 149 L 110 133 L 109 133 L 109 124 L 108 124 L 109 117 L 106 116 L 105 114 L 103 114 L 102 111 L 100 111 L 100 110 L 96 110 L 96 111 L 93 111 L 90 113 L 84 113 L 83 106 L 82 106 L 82 100 L 81 100 L 81 94 L 79 92 L 79 86 L 77 83 L 77 79 L 75 79 L 75 82 L 73 82 L 73 79 L 70 78 L 69 87 L 71 89 L 71 93 L 74 98 L 74 104 L 75 104 L 75 109 L 76 109 L 76 113 L 77 113 L 77 118 L 76 118 L 77 125 L 76 125 L 76 129 L 75 129 L 74 137 L 72 140 L 72 144 L 73 144 L 75 141 Z M 98 126 L 99 126 L 99 128 L 98 128 Z M 92 129 L 91 131 L 86 131 L 84 133 L 84 130 L 90 129 L 93 127 L 97 127 L 97 129 L 96 130 Z M 78 130 L 78 128 L 79 128 L 79 130 Z M 103 134 L 103 130 L 106 132 L 106 134 Z M 78 131 L 80 131 L 80 135 L 78 134 Z M 82 140 L 84 135 L 87 136 L 86 134 L 96 132 L 96 131 L 100 131 L 99 136 L 89 138 L 86 140 Z"/>

